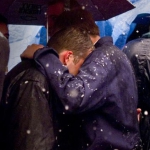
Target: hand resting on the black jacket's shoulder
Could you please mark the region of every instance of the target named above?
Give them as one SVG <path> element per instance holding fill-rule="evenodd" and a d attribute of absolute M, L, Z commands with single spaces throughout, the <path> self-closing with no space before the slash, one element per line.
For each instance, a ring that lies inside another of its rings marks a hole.
<path fill-rule="evenodd" d="M 32 44 L 27 46 L 27 48 L 24 50 L 24 52 L 20 55 L 21 58 L 29 58 L 29 59 L 33 59 L 33 55 L 34 53 L 40 49 L 43 48 L 43 45 L 40 44 Z"/>

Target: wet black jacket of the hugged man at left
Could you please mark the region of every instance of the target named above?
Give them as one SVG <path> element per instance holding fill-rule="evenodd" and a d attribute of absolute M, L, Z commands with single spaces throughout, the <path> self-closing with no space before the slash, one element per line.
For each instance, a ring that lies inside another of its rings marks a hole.
<path fill-rule="evenodd" d="M 51 90 L 32 61 L 23 61 L 6 76 L 1 103 L 3 150 L 53 150 Z"/>

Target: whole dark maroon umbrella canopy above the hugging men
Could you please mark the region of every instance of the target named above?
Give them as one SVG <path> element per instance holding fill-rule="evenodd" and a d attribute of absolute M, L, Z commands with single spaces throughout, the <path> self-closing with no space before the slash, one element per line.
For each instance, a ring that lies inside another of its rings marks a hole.
<path fill-rule="evenodd" d="M 9 24 L 45 25 L 48 1 L 50 0 L 0 0 L 0 13 L 8 18 Z M 127 0 L 77 0 L 77 2 L 93 14 L 95 21 L 107 20 L 135 8 Z"/>

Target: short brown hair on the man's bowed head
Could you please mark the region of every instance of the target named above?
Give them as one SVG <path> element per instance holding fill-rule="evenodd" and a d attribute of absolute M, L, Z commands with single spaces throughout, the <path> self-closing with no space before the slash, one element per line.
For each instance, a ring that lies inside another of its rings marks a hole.
<path fill-rule="evenodd" d="M 71 50 L 77 58 L 85 58 L 87 52 L 94 49 L 88 33 L 73 26 L 55 33 L 48 41 L 48 46 L 54 48 L 58 54 L 63 50 Z"/>

